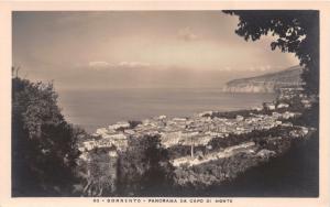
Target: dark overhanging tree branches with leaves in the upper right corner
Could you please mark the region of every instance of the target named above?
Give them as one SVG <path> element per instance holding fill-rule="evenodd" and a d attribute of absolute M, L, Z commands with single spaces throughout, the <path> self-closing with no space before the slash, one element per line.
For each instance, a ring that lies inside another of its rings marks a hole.
<path fill-rule="evenodd" d="M 307 95 L 319 95 L 319 12 L 312 10 L 227 10 L 238 15 L 240 22 L 235 33 L 245 41 L 256 41 L 272 34 L 276 41 L 272 50 L 295 53 L 304 66 L 301 78 Z"/>

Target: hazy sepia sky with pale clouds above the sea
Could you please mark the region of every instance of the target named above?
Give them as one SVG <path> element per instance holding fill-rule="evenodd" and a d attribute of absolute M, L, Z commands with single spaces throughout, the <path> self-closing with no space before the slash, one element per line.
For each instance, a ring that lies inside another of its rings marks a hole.
<path fill-rule="evenodd" d="M 13 65 L 59 89 L 222 87 L 298 65 L 221 11 L 15 11 Z"/>

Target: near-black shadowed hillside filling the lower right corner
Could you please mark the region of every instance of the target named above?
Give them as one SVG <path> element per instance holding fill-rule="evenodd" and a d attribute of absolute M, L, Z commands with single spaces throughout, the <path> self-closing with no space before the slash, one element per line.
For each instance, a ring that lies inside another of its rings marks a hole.
<path fill-rule="evenodd" d="M 294 141 L 290 145 L 290 150 L 279 156 L 271 157 L 268 162 L 260 162 L 249 155 L 245 156 L 249 160 L 243 162 L 241 159 L 244 159 L 244 156 L 239 154 L 237 156 L 237 159 L 240 159 L 238 163 L 233 162 L 231 165 L 227 165 L 227 167 L 232 165 L 242 167 L 238 164 L 253 166 L 245 168 L 243 172 L 238 172 L 239 168 L 237 167 L 228 170 L 219 167 L 218 164 L 223 164 L 224 161 L 209 163 L 209 166 L 199 167 L 199 170 L 205 170 L 205 173 L 204 176 L 200 176 L 201 178 L 198 177 L 198 181 L 212 181 L 211 186 L 205 188 L 194 187 L 196 185 L 179 187 L 173 193 L 173 196 L 318 197 L 318 133 L 314 133 L 312 138 L 304 141 Z M 213 174 L 210 173 L 212 167 L 218 167 L 218 170 L 213 170 Z M 188 173 L 188 168 L 180 171 L 184 178 L 185 173 Z M 193 172 L 190 170 L 190 173 Z M 223 176 L 226 172 L 230 172 L 230 175 L 237 173 L 235 178 L 224 179 L 223 182 L 217 181 L 217 177 L 221 178 L 221 174 Z"/>

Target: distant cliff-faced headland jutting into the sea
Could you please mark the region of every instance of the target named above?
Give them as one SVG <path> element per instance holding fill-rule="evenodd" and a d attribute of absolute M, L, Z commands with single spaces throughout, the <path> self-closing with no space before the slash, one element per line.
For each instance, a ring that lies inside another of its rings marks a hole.
<path fill-rule="evenodd" d="M 275 92 L 277 88 L 300 86 L 302 67 L 294 66 L 277 73 L 261 76 L 233 79 L 226 84 L 227 92 Z"/>

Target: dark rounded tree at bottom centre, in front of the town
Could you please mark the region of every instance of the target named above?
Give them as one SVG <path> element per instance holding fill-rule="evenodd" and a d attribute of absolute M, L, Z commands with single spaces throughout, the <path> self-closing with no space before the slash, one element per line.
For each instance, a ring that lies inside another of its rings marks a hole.
<path fill-rule="evenodd" d="M 119 195 L 164 195 L 173 185 L 173 166 L 158 137 L 129 140 L 118 161 Z"/>

